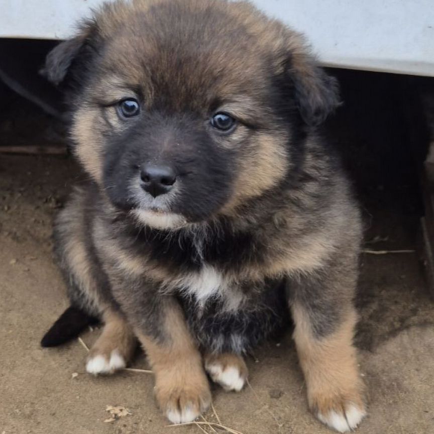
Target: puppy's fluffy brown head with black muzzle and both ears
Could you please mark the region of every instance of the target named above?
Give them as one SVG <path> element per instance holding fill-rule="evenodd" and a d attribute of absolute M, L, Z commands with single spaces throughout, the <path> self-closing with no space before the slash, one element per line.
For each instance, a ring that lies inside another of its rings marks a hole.
<path fill-rule="evenodd" d="M 177 228 L 283 185 L 337 104 L 300 35 L 248 3 L 106 4 L 47 57 L 74 152 L 117 207 Z"/>

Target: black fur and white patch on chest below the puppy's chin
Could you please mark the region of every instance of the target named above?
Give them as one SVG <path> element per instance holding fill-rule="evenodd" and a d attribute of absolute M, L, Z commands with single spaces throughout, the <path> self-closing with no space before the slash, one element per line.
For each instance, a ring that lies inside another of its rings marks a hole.
<path fill-rule="evenodd" d="M 224 310 L 236 310 L 252 290 L 261 292 L 263 283 L 249 283 L 248 276 L 258 276 L 263 252 L 252 234 L 223 231 L 219 236 L 154 236 L 148 240 L 147 256 L 152 263 L 170 270 L 171 277 L 163 283 L 163 290 L 190 297 L 199 307 L 213 300 L 221 302 Z"/>

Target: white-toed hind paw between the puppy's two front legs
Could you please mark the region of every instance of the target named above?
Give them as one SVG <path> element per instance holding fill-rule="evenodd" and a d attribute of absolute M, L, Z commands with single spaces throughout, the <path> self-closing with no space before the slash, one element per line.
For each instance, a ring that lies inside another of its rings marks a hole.
<path fill-rule="evenodd" d="M 214 383 L 219 383 L 226 391 L 239 392 L 247 379 L 248 370 L 241 356 L 231 353 L 207 355 L 205 369 Z"/>

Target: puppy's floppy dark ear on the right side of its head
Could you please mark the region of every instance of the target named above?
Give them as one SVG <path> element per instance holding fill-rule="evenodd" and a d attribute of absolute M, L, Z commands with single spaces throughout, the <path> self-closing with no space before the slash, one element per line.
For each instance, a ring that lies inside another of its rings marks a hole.
<path fill-rule="evenodd" d="M 341 104 L 338 80 L 317 65 L 300 35 L 292 35 L 289 45 L 286 72 L 294 86 L 298 110 L 307 125 L 317 126 Z"/>

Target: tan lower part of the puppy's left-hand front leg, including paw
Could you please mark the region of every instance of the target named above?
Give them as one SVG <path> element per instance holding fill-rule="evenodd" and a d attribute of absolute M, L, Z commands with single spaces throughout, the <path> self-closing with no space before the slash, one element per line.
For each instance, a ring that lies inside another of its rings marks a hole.
<path fill-rule="evenodd" d="M 190 422 L 211 402 L 209 383 L 180 306 L 172 297 L 161 298 L 158 332 L 137 327 L 136 335 L 155 373 L 160 408 L 173 423 Z"/>

